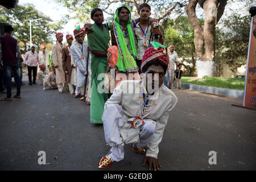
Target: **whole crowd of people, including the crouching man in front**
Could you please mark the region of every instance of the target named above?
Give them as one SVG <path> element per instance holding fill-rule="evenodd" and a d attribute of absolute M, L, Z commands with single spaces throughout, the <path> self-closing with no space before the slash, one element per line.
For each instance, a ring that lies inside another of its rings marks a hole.
<path fill-rule="evenodd" d="M 139 18 L 132 20 L 130 10 L 122 6 L 115 11 L 114 20 L 104 24 L 102 10 L 95 8 L 91 11 L 94 24 L 78 26 L 73 30 L 75 39 L 66 35 L 67 46 L 62 43 L 64 35 L 57 32 L 51 55 L 42 45 L 39 53 L 31 47 L 24 59 L 18 42 L 11 37 L 13 28 L 7 26 L 6 35 L 0 37 L 7 86 L 7 97 L 2 100 L 11 100 L 11 71 L 17 88 L 14 97 L 20 98 L 22 73 L 18 63 L 24 60 L 28 84 L 36 84 L 38 76 L 43 90 L 69 90 L 69 94 L 90 104 L 90 122 L 103 123 L 106 142 L 112 147 L 98 162 L 99 168 L 122 160 L 123 146 L 130 143 L 134 152 L 146 153 L 143 165 L 148 162 L 150 169 L 159 169 L 158 145 L 177 102 L 171 91 L 175 73 L 175 88 L 181 89 L 182 64 L 178 64 L 174 45 L 163 46 L 163 32 L 150 12 L 151 7 L 143 3 Z M 114 91 L 99 92 L 106 86 L 109 70 L 114 70 Z M 138 89 L 138 93 L 125 94 L 127 87 Z"/>

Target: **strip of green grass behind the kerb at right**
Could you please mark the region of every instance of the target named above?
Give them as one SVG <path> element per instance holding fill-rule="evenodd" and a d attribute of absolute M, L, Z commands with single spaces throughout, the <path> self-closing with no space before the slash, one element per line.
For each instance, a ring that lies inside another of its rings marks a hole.
<path fill-rule="evenodd" d="M 244 90 L 245 78 L 221 78 L 221 77 L 181 77 L 182 83 L 214 86 L 217 88 Z"/>

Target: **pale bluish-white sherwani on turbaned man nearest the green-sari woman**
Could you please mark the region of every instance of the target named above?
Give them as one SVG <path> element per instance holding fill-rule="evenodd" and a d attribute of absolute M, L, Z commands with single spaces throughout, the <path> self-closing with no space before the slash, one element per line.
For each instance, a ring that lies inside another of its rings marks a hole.
<path fill-rule="evenodd" d="M 85 75 L 86 75 L 86 63 L 88 55 L 88 44 L 87 42 L 82 42 L 82 45 L 76 42 L 70 47 L 71 55 L 77 66 L 77 87 L 85 86 Z M 81 55 L 84 55 L 84 59 L 81 59 Z M 90 53 L 89 53 L 89 63 L 88 63 L 88 74 L 90 74 Z"/>

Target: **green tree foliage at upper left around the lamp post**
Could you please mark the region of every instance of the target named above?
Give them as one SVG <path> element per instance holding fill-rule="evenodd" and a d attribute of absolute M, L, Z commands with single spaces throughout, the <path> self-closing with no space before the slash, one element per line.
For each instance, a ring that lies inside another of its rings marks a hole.
<path fill-rule="evenodd" d="M 14 36 L 19 42 L 22 42 L 22 49 L 27 48 L 27 44 L 30 41 L 30 20 L 32 21 L 32 42 L 37 46 L 41 44 L 51 43 L 51 36 L 55 35 L 55 32 L 62 28 L 64 23 L 67 23 L 68 16 L 64 17 L 60 22 L 52 23 L 52 20 L 40 13 L 31 4 L 26 6 L 17 5 L 14 9 L 7 10 L 4 7 L 0 7 L 0 22 L 10 23 L 14 27 Z"/>

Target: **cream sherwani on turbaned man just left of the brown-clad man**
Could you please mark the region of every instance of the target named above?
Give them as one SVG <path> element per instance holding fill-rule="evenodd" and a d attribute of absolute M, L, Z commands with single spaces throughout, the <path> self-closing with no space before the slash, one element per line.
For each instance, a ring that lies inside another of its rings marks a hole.
<path fill-rule="evenodd" d="M 65 45 L 63 44 L 63 47 Z M 56 68 L 56 83 L 57 84 L 64 84 L 65 83 L 65 72 L 62 67 L 62 53 L 61 47 L 56 43 L 52 46 L 52 61 L 53 65 L 59 66 Z"/>

